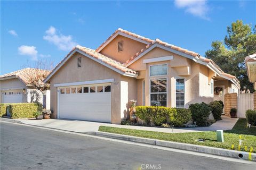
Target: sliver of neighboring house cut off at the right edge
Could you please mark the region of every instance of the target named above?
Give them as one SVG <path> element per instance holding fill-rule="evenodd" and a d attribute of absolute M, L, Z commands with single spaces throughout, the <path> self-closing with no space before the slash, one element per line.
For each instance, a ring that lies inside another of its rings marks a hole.
<path fill-rule="evenodd" d="M 247 73 L 249 81 L 254 83 L 254 90 L 256 90 L 256 53 L 245 57 Z"/>

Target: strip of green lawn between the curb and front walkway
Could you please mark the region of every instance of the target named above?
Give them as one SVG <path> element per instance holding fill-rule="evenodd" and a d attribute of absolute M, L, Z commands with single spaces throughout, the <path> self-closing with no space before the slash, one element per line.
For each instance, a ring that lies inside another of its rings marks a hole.
<path fill-rule="evenodd" d="M 243 143 L 241 146 L 241 151 L 246 151 L 253 147 L 253 152 L 256 152 L 256 128 L 246 128 L 246 120 L 239 119 L 235 124 L 234 128 L 229 131 L 224 132 L 224 141 L 217 142 L 216 132 L 206 131 L 206 132 L 190 132 L 190 133 L 164 133 L 164 132 L 153 132 L 153 131 L 142 131 L 133 130 L 126 128 L 113 128 L 109 126 L 100 126 L 99 131 L 131 135 L 135 137 L 150 138 L 167 140 L 173 142 L 190 143 L 194 145 L 203 145 L 209 147 L 231 149 L 231 145 L 234 145 L 234 150 L 238 150 L 239 145 L 239 135 L 241 135 Z M 198 139 L 204 139 L 204 142 L 198 142 Z"/>

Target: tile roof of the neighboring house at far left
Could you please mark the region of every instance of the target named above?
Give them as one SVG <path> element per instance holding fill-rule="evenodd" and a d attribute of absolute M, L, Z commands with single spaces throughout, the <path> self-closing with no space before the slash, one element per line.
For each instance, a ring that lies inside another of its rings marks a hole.
<path fill-rule="evenodd" d="M 49 74 L 49 70 L 41 70 L 41 69 L 34 69 L 34 68 L 26 68 L 26 69 L 21 69 L 18 71 L 14 71 L 11 73 L 7 73 L 4 75 L 0 75 L 0 79 L 3 78 L 8 78 L 8 77 L 16 77 L 19 78 L 23 83 L 25 83 L 27 86 L 29 86 L 29 75 L 28 74 L 34 74 L 38 73 L 40 71 L 41 73 L 39 75 L 44 75 L 44 74 Z"/>

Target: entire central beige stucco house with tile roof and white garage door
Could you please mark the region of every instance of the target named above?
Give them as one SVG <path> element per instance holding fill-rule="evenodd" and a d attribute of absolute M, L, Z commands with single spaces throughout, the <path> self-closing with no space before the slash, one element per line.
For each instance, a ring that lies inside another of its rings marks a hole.
<path fill-rule="evenodd" d="M 129 117 L 131 99 L 143 106 L 187 108 L 224 101 L 240 88 L 212 60 L 122 29 L 96 50 L 76 46 L 44 82 L 51 83 L 55 118 L 117 124 Z"/>

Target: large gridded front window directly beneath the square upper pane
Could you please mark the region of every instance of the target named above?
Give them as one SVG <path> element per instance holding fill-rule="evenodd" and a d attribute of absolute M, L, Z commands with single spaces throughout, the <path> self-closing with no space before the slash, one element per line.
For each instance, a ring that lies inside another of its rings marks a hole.
<path fill-rule="evenodd" d="M 166 79 L 151 79 L 150 80 L 150 105 L 164 106 L 167 105 L 167 90 Z"/>

